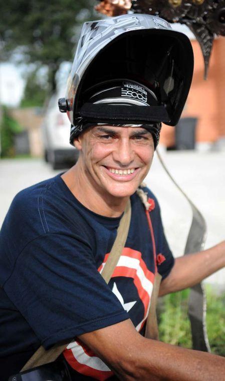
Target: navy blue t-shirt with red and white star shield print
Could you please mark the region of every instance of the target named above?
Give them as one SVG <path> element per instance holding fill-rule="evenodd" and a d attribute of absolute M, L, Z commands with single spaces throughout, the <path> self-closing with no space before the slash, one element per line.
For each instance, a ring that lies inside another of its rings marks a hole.
<path fill-rule="evenodd" d="M 164 278 L 174 259 L 157 200 L 147 188 L 144 191 L 155 202 L 150 217 L 156 254 L 163 258 L 158 271 Z M 0 365 L 5 379 L 41 344 L 49 348 L 60 340 L 70 342 L 128 318 L 143 330 L 155 264 L 144 206 L 136 193 L 131 206 L 127 241 L 107 285 L 100 272 L 120 218 L 88 210 L 60 175 L 14 198 L 0 235 Z M 83 374 L 81 379 L 112 374 L 79 341 L 73 341 L 64 355 L 74 372 Z"/>

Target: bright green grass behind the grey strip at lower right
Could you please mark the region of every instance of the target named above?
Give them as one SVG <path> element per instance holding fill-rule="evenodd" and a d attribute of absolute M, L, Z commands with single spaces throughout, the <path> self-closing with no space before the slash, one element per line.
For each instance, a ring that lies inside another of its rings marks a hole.
<path fill-rule="evenodd" d="M 161 298 L 159 310 L 160 340 L 191 348 L 191 329 L 187 315 L 189 290 Z M 217 295 L 206 287 L 206 326 L 212 353 L 225 356 L 225 293 Z"/>

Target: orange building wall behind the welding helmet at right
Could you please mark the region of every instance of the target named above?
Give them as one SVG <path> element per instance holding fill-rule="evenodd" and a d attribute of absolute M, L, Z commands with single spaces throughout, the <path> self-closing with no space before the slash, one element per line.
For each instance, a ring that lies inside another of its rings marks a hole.
<path fill-rule="evenodd" d="M 196 143 L 213 146 L 225 139 L 225 38 L 214 41 L 205 81 L 204 63 L 197 41 L 192 41 L 194 75 L 181 117 L 196 117 Z M 175 144 L 174 128 L 163 126 L 160 143 L 170 147 Z"/>

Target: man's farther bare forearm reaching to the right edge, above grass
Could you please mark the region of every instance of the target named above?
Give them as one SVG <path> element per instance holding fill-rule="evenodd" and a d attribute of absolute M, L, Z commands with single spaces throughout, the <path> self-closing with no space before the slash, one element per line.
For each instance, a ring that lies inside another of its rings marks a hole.
<path fill-rule="evenodd" d="M 160 286 L 159 296 L 196 285 L 225 267 L 225 241 L 207 250 L 175 259 L 175 264 Z"/>

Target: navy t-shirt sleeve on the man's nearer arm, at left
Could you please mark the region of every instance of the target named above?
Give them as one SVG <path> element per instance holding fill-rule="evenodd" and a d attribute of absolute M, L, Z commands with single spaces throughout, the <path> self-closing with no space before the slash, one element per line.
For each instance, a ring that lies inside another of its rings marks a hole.
<path fill-rule="evenodd" d="M 45 348 L 129 318 L 76 236 L 30 242 L 4 288 Z"/>

